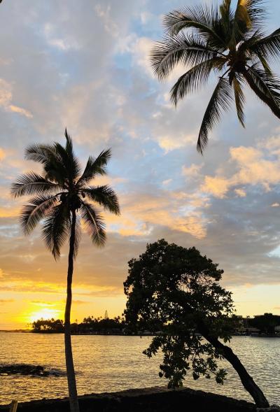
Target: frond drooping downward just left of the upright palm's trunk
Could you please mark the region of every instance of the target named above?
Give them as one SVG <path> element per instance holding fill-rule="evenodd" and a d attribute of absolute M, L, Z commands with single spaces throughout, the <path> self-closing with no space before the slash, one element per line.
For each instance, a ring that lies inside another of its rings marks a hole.
<path fill-rule="evenodd" d="M 66 203 L 54 206 L 43 221 L 43 239 L 55 260 L 60 257 L 60 249 L 69 236 L 71 222 Z"/>

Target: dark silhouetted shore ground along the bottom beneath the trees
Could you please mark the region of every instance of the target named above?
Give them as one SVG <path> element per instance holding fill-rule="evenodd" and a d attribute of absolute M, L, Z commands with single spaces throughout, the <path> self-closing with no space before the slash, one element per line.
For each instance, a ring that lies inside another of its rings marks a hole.
<path fill-rule="evenodd" d="M 80 412 L 251 412 L 255 406 L 221 395 L 183 388 L 147 388 L 79 397 Z M 8 412 L 8 406 L 0 406 Z M 69 412 L 67 399 L 42 399 L 22 402 L 18 412 Z"/>

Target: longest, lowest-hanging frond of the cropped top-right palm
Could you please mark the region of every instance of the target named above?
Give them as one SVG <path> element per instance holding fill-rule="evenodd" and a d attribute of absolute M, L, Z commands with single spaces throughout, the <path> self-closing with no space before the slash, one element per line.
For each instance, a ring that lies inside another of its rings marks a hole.
<path fill-rule="evenodd" d="M 220 78 L 204 113 L 200 134 L 197 140 L 197 150 L 203 152 L 207 146 L 208 135 L 214 125 L 220 120 L 221 112 L 227 111 L 232 102 L 232 88 L 225 78 Z"/>

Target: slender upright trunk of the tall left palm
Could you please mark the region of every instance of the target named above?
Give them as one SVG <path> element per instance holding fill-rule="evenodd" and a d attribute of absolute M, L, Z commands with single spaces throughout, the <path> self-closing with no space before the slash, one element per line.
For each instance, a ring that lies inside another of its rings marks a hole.
<path fill-rule="evenodd" d="M 72 211 L 71 235 L 69 241 L 68 274 L 67 274 L 67 297 L 64 314 L 64 344 L 65 361 L 69 391 L 69 403 L 71 412 L 79 412 L 78 394 L 76 388 L 75 370 L 73 365 L 73 355 L 71 346 L 71 304 L 72 304 L 72 277 L 73 277 L 73 256 L 75 245 L 76 211 Z"/>

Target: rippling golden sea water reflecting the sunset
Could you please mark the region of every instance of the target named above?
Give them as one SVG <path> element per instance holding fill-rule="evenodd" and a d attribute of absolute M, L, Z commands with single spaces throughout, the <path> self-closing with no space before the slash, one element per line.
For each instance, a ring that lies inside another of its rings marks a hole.
<path fill-rule="evenodd" d="M 166 385 L 167 381 L 158 376 L 160 355 L 148 359 L 142 354 L 151 339 L 150 336 L 141 339 L 138 336 L 73 336 L 79 395 Z M 235 336 L 231 346 L 269 402 L 280 404 L 280 339 Z M 0 332 L 0 355 L 0 364 L 41 364 L 65 371 L 62 334 Z M 235 371 L 228 363 L 222 365 L 228 370 L 225 385 L 217 385 L 214 379 L 193 381 L 190 377 L 185 386 L 251 401 Z M 26 401 L 66 395 L 66 376 L 0 376 L 0 404 L 8 404 L 10 399 Z"/>

